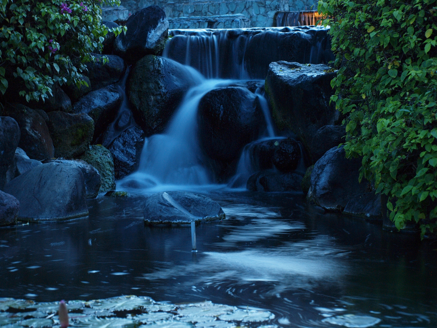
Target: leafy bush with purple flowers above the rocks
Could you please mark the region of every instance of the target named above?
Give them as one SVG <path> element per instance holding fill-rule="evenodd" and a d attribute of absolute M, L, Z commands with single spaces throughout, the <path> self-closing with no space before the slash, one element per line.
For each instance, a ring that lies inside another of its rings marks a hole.
<path fill-rule="evenodd" d="M 119 0 L 104 0 L 119 5 Z M 101 52 L 108 30 L 101 24 L 100 0 L 1 0 L 0 91 L 14 80 L 27 101 L 45 99 L 52 85 L 86 84 L 82 73 Z"/>

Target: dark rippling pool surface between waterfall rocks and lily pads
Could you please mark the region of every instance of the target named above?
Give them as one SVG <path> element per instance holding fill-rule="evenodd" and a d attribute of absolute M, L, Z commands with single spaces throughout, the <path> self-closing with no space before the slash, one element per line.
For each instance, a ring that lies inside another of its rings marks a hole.
<path fill-rule="evenodd" d="M 282 327 L 436 326 L 436 242 L 319 213 L 302 195 L 208 196 L 227 219 L 197 227 L 197 254 L 190 229 L 144 226 L 144 196 L 90 200 L 85 220 L 0 229 L 0 297 L 136 294 L 264 308 Z"/>

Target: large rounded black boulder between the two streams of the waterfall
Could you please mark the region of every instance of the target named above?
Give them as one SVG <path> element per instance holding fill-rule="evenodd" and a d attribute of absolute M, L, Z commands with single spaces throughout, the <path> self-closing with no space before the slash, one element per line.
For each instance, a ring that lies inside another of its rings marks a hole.
<path fill-rule="evenodd" d="M 264 127 L 257 96 L 246 88 L 217 88 L 205 94 L 200 101 L 199 143 L 205 154 L 215 161 L 238 159 L 243 147 L 256 140 Z"/>

